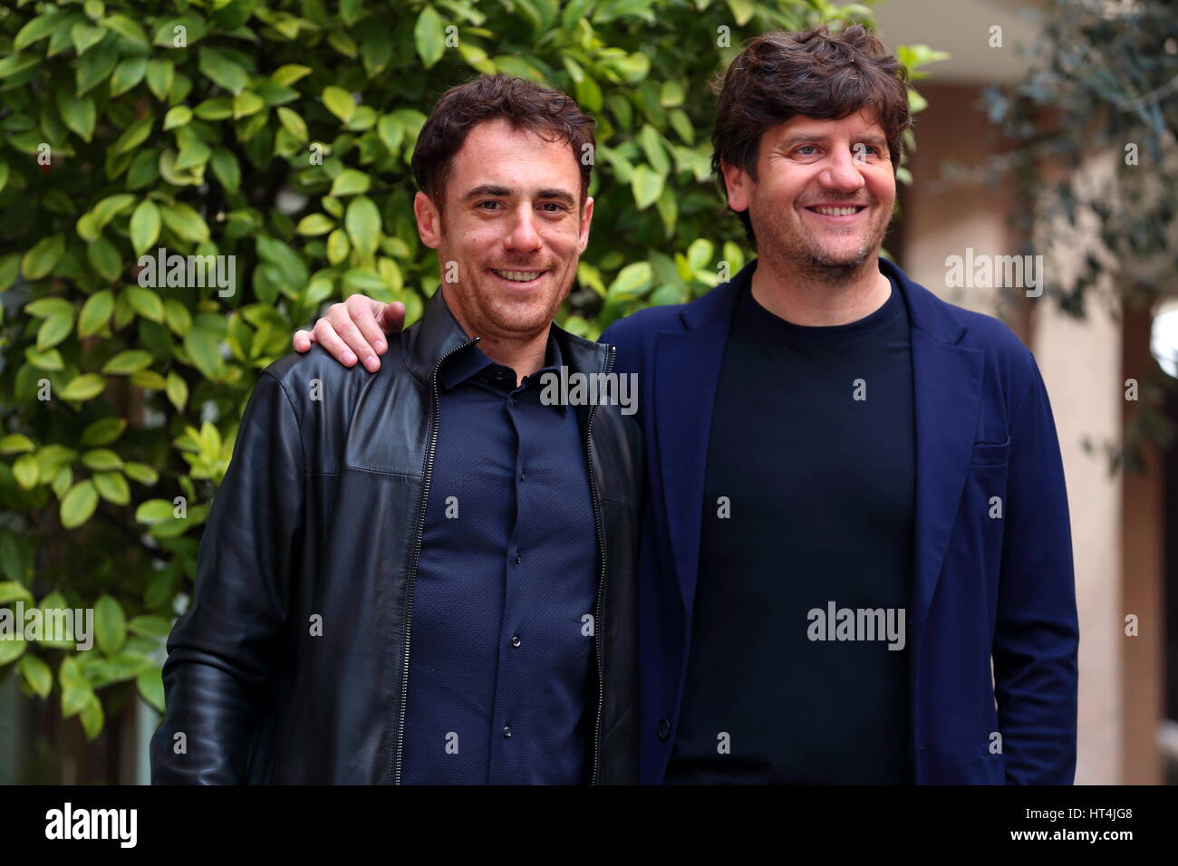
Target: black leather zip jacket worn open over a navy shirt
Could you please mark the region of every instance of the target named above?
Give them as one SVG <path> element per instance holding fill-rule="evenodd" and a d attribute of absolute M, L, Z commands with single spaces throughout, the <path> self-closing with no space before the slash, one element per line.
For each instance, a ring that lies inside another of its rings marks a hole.
<path fill-rule="evenodd" d="M 399 784 L 436 377 L 471 342 L 441 295 L 376 373 L 313 346 L 259 377 L 167 641 L 153 784 Z M 552 329 L 570 371 L 613 366 Z M 576 410 L 601 567 L 585 781 L 631 784 L 642 441 L 616 405 Z"/>

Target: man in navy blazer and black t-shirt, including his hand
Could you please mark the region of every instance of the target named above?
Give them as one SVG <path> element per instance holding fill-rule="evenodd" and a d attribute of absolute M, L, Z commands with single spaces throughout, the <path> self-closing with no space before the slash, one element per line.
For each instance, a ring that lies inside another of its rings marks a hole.
<path fill-rule="evenodd" d="M 1051 408 L 1005 325 L 880 257 L 909 124 L 863 28 L 752 40 L 713 166 L 759 258 L 601 337 L 647 449 L 642 782 L 1073 781 Z M 316 336 L 366 358 L 373 310 Z"/>

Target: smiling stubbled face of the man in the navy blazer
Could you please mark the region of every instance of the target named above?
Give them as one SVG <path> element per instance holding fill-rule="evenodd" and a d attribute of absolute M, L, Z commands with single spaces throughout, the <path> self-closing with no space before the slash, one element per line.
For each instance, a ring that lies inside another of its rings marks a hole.
<path fill-rule="evenodd" d="M 795 117 L 761 135 L 756 174 L 723 165 L 728 204 L 748 209 L 757 252 L 787 270 L 845 279 L 879 254 L 895 203 L 884 128 L 866 111 Z"/>

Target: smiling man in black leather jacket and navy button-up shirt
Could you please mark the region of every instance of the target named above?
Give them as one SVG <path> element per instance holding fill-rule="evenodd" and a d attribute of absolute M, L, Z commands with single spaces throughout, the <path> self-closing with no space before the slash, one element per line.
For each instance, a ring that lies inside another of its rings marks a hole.
<path fill-rule="evenodd" d="M 636 781 L 641 435 L 617 401 L 537 396 L 554 363 L 614 361 L 552 323 L 591 124 L 519 79 L 438 101 L 415 212 L 444 282 L 378 373 L 317 348 L 259 377 L 167 642 L 154 784 Z"/>

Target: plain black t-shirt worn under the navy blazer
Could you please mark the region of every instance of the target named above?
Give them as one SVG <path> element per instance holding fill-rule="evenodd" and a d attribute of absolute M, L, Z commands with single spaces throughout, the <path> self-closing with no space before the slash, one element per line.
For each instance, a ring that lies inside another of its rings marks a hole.
<path fill-rule="evenodd" d="M 716 389 L 668 784 L 911 784 L 914 508 L 899 289 L 826 328 L 746 290 Z"/>

